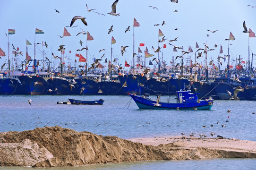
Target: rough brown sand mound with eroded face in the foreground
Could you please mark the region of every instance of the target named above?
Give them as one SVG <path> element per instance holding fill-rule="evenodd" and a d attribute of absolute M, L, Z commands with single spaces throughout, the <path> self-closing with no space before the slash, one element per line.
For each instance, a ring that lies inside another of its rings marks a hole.
<path fill-rule="evenodd" d="M 145 145 L 116 136 L 98 136 L 58 126 L 43 127 L 0 133 L 0 165 L 52 167 L 123 161 L 256 158 L 254 152 L 186 148 L 185 145 L 179 141 Z"/>

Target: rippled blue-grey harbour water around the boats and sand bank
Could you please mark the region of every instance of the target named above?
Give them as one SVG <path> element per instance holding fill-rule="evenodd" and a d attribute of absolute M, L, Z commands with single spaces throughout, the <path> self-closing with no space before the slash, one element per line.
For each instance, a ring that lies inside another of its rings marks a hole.
<path fill-rule="evenodd" d="M 155 99 L 155 96 L 151 97 Z M 31 105 L 28 103 L 29 98 L 33 100 Z M 105 102 L 101 106 L 56 104 L 57 101 L 67 101 L 68 98 L 80 100 L 102 98 Z M 161 97 L 161 101 L 166 100 L 166 96 Z M 0 110 L 0 132 L 23 131 L 36 127 L 58 125 L 76 131 L 89 131 L 97 135 L 111 135 L 125 139 L 176 136 L 180 135 L 180 132 L 190 134 L 192 131 L 198 136 L 201 133 L 210 136 L 210 133 L 214 132 L 216 136 L 256 141 L 256 115 L 252 114 L 256 112 L 256 101 L 216 100 L 212 110 L 138 110 L 136 103 L 130 102 L 129 96 L 2 95 L 0 96 Z M 231 110 L 231 113 L 227 113 L 227 110 Z M 230 116 L 229 119 L 228 116 Z M 227 119 L 229 122 L 226 122 Z M 220 123 L 217 124 L 219 121 Z M 225 124 L 226 127 L 222 127 L 222 124 Z M 210 125 L 214 127 L 210 127 Z M 198 170 L 198 167 L 202 169 L 212 167 L 236 169 L 239 167 L 238 165 L 253 169 L 253 164 L 256 164 L 255 159 L 214 159 L 146 161 L 67 167 L 65 169 L 170 169 L 170 167 L 177 169 L 182 167 Z"/>

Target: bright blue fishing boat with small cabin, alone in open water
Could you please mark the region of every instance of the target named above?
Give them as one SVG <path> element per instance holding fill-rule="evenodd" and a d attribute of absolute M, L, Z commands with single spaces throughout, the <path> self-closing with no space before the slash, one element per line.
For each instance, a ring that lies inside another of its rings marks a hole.
<path fill-rule="evenodd" d="M 188 110 L 211 110 L 213 106 L 213 99 L 205 99 L 203 101 L 198 100 L 198 93 L 191 93 L 190 90 L 178 91 L 176 103 L 160 102 L 160 96 L 156 101 L 151 100 L 149 95 L 138 96 L 135 94 L 128 93 L 131 98 L 136 102 L 139 109 L 188 109 Z"/>

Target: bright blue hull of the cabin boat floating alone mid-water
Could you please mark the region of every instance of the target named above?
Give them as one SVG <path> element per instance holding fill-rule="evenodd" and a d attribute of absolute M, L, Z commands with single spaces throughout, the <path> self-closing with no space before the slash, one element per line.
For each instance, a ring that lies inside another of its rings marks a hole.
<path fill-rule="evenodd" d="M 146 99 L 144 97 L 140 97 L 137 95 L 133 95 L 128 93 L 132 99 L 136 102 L 139 109 L 156 109 L 156 110 L 169 110 L 169 109 L 187 109 L 193 110 L 194 108 L 198 110 L 211 110 L 213 106 L 213 101 L 201 101 L 201 102 L 183 102 L 183 103 L 166 103 L 166 102 L 159 102 L 161 106 L 154 106 L 156 101 Z"/>

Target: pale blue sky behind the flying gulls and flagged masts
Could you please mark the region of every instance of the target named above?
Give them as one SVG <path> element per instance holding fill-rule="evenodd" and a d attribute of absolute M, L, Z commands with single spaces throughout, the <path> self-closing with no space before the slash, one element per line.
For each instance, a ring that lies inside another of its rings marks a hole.
<path fill-rule="evenodd" d="M 105 53 L 105 57 L 110 60 L 111 51 L 111 36 L 116 39 L 116 43 L 112 44 L 114 57 L 118 58 L 119 64 L 124 66 L 125 60 L 132 61 L 132 31 L 133 31 L 133 18 L 137 19 L 140 26 L 134 28 L 135 34 L 135 52 L 137 52 L 139 43 L 145 43 L 149 52 L 154 53 L 152 46 L 157 48 L 158 46 L 158 29 L 162 30 L 166 39 L 178 38 L 178 41 L 171 42 L 176 46 L 183 46 L 184 51 L 188 51 L 188 46 L 195 48 L 196 42 L 200 48 L 205 48 L 204 42 L 206 42 L 210 49 L 214 51 L 208 52 L 208 63 L 213 59 L 214 63 L 217 63 L 217 57 L 220 52 L 220 45 L 223 47 L 223 54 L 228 54 L 228 41 L 224 39 L 229 38 L 230 32 L 235 36 L 234 41 L 230 41 L 230 61 L 236 59 L 241 55 L 243 60 L 248 60 L 248 34 L 242 33 L 243 22 L 246 21 L 247 28 L 251 28 L 256 33 L 256 8 L 249 7 L 247 5 L 256 6 L 255 0 L 179 0 L 178 3 L 172 3 L 169 0 L 119 0 L 117 4 L 117 13 L 120 16 L 115 17 L 107 15 L 111 12 L 111 5 L 114 0 L 1 0 L 0 1 L 0 48 L 5 51 L 6 57 L 0 59 L 0 65 L 7 62 L 8 58 L 8 38 L 5 33 L 8 33 L 8 29 L 15 29 L 16 34 L 9 36 L 10 47 L 14 44 L 15 47 L 19 47 L 20 51 L 26 51 L 26 40 L 33 45 L 28 46 L 28 53 L 34 58 L 34 36 L 35 28 L 43 30 L 45 34 L 36 34 L 35 42 L 47 42 L 48 49 L 42 44 L 38 44 L 36 48 L 36 58 L 43 59 L 42 50 L 46 51 L 45 56 L 49 58 L 52 63 L 53 60 L 51 52 L 60 56 L 60 51 L 57 51 L 59 45 L 62 45 L 62 38 L 58 35 L 63 35 L 63 29 L 65 26 L 69 26 L 72 17 L 82 16 L 86 17 L 88 26 L 85 26 L 80 20 L 77 20 L 73 26 L 67 27 L 68 32 L 71 34 L 69 37 L 64 37 L 64 45 L 66 48 L 66 54 L 70 60 L 74 62 L 76 50 L 85 47 L 86 36 L 77 33 L 81 32 L 82 28 L 88 31 L 93 37 L 93 41 L 88 41 L 88 59 L 89 64 L 92 59 L 101 58 Z M 88 12 L 85 4 L 89 8 L 96 8 L 99 13 L 105 14 L 105 16 L 98 15 L 94 12 Z M 157 7 L 153 9 L 152 7 Z M 60 11 L 55 12 L 54 9 Z M 173 12 L 174 10 L 178 12 Z M 164 26 L 154 26 L 154 24 L 162 24 L 165 21 Z M 113 25 L 113 32 L 108 34 L 108 29 Z M 124 33 L 125 29 L 130 27 L 130 31 Z M 174 29 L 178 28 L 178 31 Z M 209 30 L 219 30 L 216 33 L 211 33 Z M 209 34 L 209 37 L 206 36 Z M 77 35 L 77 36 L 76 36 Z M 162 37 L 160 37 L 162 38 Z M 84 42 L 81 46 L 79 41 Z M 163 50 L 164 60 L 170 65 L 172 59 L 173 47 L 168 44 L 168 41 L 160 43 L 167 44 L 167 48 Z M 219 45 L 217 48 L 214 44 Z M 249 39 L 250 52 L 256 53 L 256 38 Z M 128 46 L 127 52 L 121 56 L 121 46 Z M 144 52 L 145 46 L 141 47 Z M 106 49 L 99 53 L 100 49 Z M 68 53 L 71 51 L 71 53 Z M 161 49 L 162 51 L 162 49 Z M 193 49 L 195 52 L 195 49 Z M 192 56 L 194 63 L 195 54 L 186 54 Z M 197 52 L 198 53 L 198 52 Z M 81 52 L 85 56 L 85 50 Z M 144 56 L 144 53 L 142 54 Z M 181 51 L 175 53 L 176 56 L 180 56 Z M 10 48 L 10 57 L 14 58 L 12 54 L 12 48 Z M 153 59 L 154 57 L 148 58 Z M 19 60 L 24 60 L 26 54 L 19 56 Z M 68 57 L 67 57 L 68 58 Z M 76 58 L 78 60 L 78 58 Z M 197 59 L 199 63 L 203 62 L 203 58 Z M 227 60 L 226 60 L 227 61 Z M 55 59 L 55 63 L 59 62 Z M 65 61 L 68 63 L 68 61 Z M 180 59 L 175 61 L 180 62 Z M 103 63 L 103 61 L 102 61 Z M 255 65 L 256 60 L 253 60 Z M 83 63 L 79 63 L 83 64 Z M 230 63 L 231 64 L 231 63 Z M 104 65 L 104 64 L 103 64 Z M 227 62 L 223 61 L 223 66 L 227 65 Z M 55 64 L 57 66 L 57 64 Z"/>

